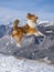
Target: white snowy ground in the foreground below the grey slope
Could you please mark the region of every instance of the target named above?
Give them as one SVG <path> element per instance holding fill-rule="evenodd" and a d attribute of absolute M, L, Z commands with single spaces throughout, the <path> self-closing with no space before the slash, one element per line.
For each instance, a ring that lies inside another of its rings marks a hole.
<path fill-rule="evenodd" d="M 54 72 L 54 65 L 0 54 L 0 72 Z"/>

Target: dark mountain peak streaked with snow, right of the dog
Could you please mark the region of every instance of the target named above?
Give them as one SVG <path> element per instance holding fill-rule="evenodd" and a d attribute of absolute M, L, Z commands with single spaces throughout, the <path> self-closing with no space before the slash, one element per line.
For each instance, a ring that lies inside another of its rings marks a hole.
<path fill-rule="evenodd" d="M 54 34 L 54 23 L 48 21 L 41 21 L 39 22 L 39 30 L 46 35 Z"/>

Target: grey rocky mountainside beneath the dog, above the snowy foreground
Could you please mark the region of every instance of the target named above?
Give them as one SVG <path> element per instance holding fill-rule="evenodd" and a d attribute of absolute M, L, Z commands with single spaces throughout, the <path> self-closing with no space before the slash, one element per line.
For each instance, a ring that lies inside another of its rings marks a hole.
<path fill-rule="evenodd" d="M 21 48 L 17 47 L 17 40 L 6 35 L 0 39 L 0 53 L 14 55 L 17 58 L 26 58 L 31 60 L 40 60 L 48 58 L 54 62 L 54 38 L 36 38 L 28 35 L 22 39 Z"/>

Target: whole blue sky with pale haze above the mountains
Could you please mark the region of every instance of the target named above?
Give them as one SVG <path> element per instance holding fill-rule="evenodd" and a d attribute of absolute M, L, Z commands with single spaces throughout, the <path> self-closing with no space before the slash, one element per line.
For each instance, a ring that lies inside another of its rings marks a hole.
<path fill-rule="evenodd" d="M 8 24 L 15 18 L 25 21 L 29 12 L 39 20 L 54 22 L 54 0 L 0 0 L 0 24 Z"/>

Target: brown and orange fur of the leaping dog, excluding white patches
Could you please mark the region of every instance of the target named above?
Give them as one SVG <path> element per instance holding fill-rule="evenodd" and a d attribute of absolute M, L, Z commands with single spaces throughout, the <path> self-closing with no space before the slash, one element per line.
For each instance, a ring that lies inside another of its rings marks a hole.
<path fill-rule="evenodd" d="M 34 22 L 36 22 L 36 20 L 37 20 L 37 17 L 35 17 L 34 14 L 31 14 L 31 13 L 28 13 L 26 18 L 30 20 L 33 20 Z M 18 43 L 21 43 L 21 40 L 22 40 L 24 34 L 26 34 L 26 33 L 33 34 L 36 32 L 36 30 L 29 27 L 28 23 L 24 27 L 18 27 L 19 22 L 20 21 L 18 19 L 14 20 L 14 22 L 13 22 L 12 37 L 18 40 Z"/>

